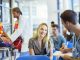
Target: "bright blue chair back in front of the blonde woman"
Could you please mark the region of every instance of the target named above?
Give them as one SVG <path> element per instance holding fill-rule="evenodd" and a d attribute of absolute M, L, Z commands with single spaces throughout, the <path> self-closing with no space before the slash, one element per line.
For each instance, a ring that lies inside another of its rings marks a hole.
<path fill-rule="evenodd" d="M 50 60 L 48 56 L 44 55 L 34 55 L 34 56 L 21 56 L 16 60 Z"/>

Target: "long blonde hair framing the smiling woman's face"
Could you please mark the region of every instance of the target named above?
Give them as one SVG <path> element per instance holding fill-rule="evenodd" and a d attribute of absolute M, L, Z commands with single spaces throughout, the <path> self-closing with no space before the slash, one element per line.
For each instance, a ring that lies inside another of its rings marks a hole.
<path fill-rule="evenodd" d="M 46 43 L 46 42 L 49 41 L 49 37 L 48 37 L 48 26 L 47 26 L 46 23 L 41 23 L 41 24 L 39 25 L 39 27 L 38 27 L 38 28 L 36 29 L 36 31 L 33 33 L 33 38 L 35 38 L 35 39 L 38 38 L 39 28 L 40 28 L 41 26 L 43 26 L 43 25 L 45 25 L 45 26 L 47 27 L 47 34 L 46 34 L 46 36 L 43 38 L 43 42 Z"/>

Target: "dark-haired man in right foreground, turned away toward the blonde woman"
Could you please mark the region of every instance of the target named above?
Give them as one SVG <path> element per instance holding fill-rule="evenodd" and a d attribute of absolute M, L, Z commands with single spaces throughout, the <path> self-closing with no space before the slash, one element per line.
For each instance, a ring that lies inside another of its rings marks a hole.
<path fill-rule="evenodd" d="M 65 60 L 80 59 L 80 24 L 77 21 L 77 14 L 73 10 L 66 10 L 61 14 L 62 24 L 68 29 L 69 32 L 74 32 L 73 41 L 73 58 L 65 57 Z M 71 51 L 67 50 L 67 51 Z"/>

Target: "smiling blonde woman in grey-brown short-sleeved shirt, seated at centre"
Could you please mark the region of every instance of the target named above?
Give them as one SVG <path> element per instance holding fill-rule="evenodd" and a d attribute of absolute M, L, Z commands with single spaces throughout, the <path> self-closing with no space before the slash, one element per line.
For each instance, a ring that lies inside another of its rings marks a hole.
<path fill-rule="evenodd" d="M 29 40 L 28 48 L 31 55 L 48 55 L 52 59 L 52 50 L 46 23 L 39 25 L 34 36 Z"/>

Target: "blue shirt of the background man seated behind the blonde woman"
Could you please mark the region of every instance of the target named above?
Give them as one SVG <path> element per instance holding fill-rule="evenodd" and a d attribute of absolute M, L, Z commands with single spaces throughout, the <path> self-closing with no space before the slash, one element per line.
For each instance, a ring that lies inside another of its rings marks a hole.
<path fill-rule="evenodd" d="M 54 36 L 51 36 L 50 38 L 51 43 L 53 44 L 53 48 L 55 48 L 55 50 L 59 50 L 62 47 L 63 43 L 66 43 L 65 38 L 62 35 L 58 35 L 57 38 L 55 38 Z"/>

